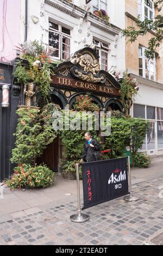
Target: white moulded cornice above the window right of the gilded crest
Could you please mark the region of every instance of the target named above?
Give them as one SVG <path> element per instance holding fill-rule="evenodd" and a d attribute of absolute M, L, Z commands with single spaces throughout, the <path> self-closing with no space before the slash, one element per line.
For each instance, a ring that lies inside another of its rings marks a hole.
<path fill-rule="evenodd" d="M 99 28 L 111 35 L 118 35 L 121 32 L 121 28 L 118 28 L 112 24 L 108 25 L 107 22 L 92 13 L 86 14 L 86 21 L 89 21 L 93 27 Z"/>

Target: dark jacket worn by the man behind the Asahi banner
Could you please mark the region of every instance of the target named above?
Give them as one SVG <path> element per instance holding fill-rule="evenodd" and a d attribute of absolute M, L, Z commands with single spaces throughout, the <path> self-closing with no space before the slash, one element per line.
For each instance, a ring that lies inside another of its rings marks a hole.
<path fill-rule="evenodd" d="M 93 153 L 95 150 L 100 150 L 101 146 L 95 141 L 95 139 L 92 139 L 91 144 L 94 145 L 95 147 L 91 147 L 87 141 L 84 144 L 84 149 L 83 149 L 83 154 L 82 154 L 82 159 L 85 162 L 91 162 L 91 161 L 96 161 L 95 155 Z"/>

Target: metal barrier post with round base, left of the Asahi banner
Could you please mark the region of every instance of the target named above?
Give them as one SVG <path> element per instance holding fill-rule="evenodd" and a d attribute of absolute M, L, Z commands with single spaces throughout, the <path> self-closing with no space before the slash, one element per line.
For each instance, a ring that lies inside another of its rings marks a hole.
<path fill-rule="evenodd" d="M 86 222 L 90 219 L 88 214 L 82 214 L 80 205 L 80 187 L 79 187 L 79 163 L 76 164 L 76 177 L 77 177 L 77 197 L 78 197 L 78 214 L 70 216 L 72 222 Z"/>

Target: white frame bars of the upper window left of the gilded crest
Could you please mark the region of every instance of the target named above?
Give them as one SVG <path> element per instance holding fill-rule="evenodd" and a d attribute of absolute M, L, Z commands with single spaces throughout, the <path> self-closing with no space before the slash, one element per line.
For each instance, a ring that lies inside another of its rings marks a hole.
<path fill-rule="evenodd" d="M 72 45 L 72 44 L 71 44 L 71 38 L 72 38 L 72 37 L 71 37 L 71 29 L 68 28 L 68 27 L 62 26 L 62 25 L 58 24 L 58 23 L 55 22 L 55 21 L 49 20 L 49 23 L 50 23 L 50 22 L 52 22 L 52 23 L 58 25 L 58 30 L 57 30 L 57 29 L 54 29 L 54 28 L 51 28 L 51 27 L 48 28 L 48 48 L 49 48 L 49 49 L 52 48 L 51 46 L 49 46 L 49 32 L 52 32 L 52 33 L 54 32 L 54 33 L 58 33 L 58 34 L 59 34 L 59 57 L 51 56 L 51 58 L 52 58 L 52 59 L 55 59 L 55 60 L 66 60 L 66 59 L 62 58 L 62 45 L 64 44 L 63 41 L 62 41 L 62 37 L 63 37 L 63 36 L 66 36 L 66 38 L 70 39 L 70 56 L 71 56 L 71 45 Z M 62 27 L 69 29 L 69 30 L 70 30 L 70 35 L 68 35 L 68 34 L 66 34 L 66 33 L 64 33 L 64 32 L 62 32 Z M 68 53 L 68 54 L 69 54 L 69 53 Z"/>

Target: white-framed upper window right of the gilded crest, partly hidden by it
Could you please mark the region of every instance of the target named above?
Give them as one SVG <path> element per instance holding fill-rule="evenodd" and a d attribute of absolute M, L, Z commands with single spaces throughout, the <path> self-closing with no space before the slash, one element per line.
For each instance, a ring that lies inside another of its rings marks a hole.
<path fill-rule="evenodd" d="M 101 69 L 108 70 L 108 56 L 109 56 L 109 44 L 104 42 L 94 40 L 97 46 L 97 52 L 99 54 L 99 63 L 101 64 Z"/>

